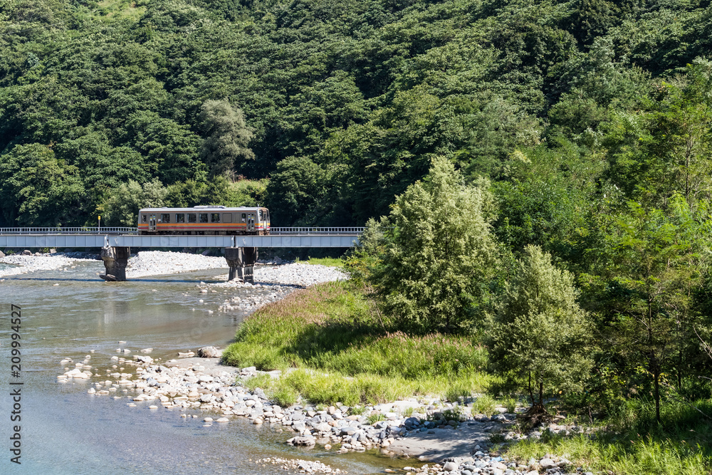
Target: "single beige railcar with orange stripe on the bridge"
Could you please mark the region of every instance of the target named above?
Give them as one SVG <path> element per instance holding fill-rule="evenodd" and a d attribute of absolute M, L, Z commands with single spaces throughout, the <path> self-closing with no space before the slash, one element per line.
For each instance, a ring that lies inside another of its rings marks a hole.
<path fill-rule="evenodd" d="M 269 234 L 264 207 L 197 206 L 144 208 L 138 212 L 139 234 Z"/>

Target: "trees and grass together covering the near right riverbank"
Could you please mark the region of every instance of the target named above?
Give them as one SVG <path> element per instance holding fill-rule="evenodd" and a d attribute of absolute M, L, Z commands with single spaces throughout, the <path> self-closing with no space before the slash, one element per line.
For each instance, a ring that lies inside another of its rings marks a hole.
<path fill-rule="evenodd" d="M 488 184 L 465 184 L 450 162 L 434 160 L 389 216 L 370 221 L 345 261 L 350 281 L 293 293 L 251 315 L 225 360 L 295 368 L 252 383 L 285 405 L 299 397 L 353 406 L 489 392 L 528 406 L 520 430 L 557 411 L 604 426 L 595 437 L 528 439 L 510 448 L 513 456 L 556 453 L 614 473 L 708 473 L 712 352 L 691 338 L 708 328 L 706 300 L 677 294 L 705 272 L 703 249 L 691 237 L 706 239 L 708 224 L 689 220 L 684 199 L 673 202 L 669 221 L 629 217 L 597 237 L 604 248 L 597 253 L 624 253 L 627 273 L 641 274 L 616 276 L 607 285 L 618 286 L 618 295 L 609 295 L 600 287 L 605 273 L 580 272 L 577 285 L 540 246 L 513 254 L 493 233 Z M 621 306 L 613 320 L 600 298 Z M 478 409 L 486 404 L 481 398 Z"/>

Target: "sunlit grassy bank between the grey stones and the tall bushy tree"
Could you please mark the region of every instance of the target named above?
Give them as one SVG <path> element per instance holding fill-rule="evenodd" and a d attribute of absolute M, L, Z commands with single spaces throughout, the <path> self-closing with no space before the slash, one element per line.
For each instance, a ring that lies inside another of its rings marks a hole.
<path fill-rule="evenodd" d="M 481 392 L 486 351 L 463 337 L 389 333 L 349 282 L 296 291 L 251 315 L 225 350 L 229 365 L 296 368 L 262 387 L 283 404 L 369 404 L 412 395 L 454 399 Z M 328 374 L 325 375 L 325 374 Z"/>

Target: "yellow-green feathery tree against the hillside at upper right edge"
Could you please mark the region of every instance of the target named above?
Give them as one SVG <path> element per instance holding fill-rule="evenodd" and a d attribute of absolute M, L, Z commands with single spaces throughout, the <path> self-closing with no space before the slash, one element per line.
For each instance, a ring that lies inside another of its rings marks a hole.
<path fill-rule="evenodd" d="M 609 179 L 646 206 L 664 208 L 674 194 L 691 206 L 712 199 L 712 63 L 662 81 L 644 105 L 606 127 Z"/>

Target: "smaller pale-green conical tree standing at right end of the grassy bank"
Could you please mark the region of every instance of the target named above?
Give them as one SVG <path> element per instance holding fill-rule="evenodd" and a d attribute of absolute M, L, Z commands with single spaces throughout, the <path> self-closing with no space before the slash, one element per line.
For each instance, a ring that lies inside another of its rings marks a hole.
<path fill-rule="evenodd" d="M 592 324 L 577 296 L 571 273 L 538 246 L 525 247 L 496 312 L 491 356 L 525 385 L 533 414 L 545 414 L 547 392 L 580 390 L 593 365 Z"/>

